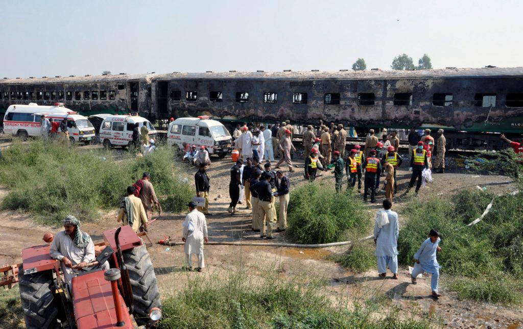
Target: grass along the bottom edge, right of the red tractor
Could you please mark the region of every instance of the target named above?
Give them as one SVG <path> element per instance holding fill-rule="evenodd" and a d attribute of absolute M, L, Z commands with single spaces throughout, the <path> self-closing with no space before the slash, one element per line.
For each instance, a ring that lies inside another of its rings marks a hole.
<path fill-rule="evenodd" d="M 276 271 L 262 281 L 246 273 L 225 278 L 191 277 L 185 288 L 163 300 L 162 328 L 428 328 L 427 319 L 407 319 L 393 309 L 373 316 L 374 303 L 356 304 L 349 311 L 333 302 L 319 281 L 278 278 Z M 383 310 L 381 310 L 383 312 Z"/>

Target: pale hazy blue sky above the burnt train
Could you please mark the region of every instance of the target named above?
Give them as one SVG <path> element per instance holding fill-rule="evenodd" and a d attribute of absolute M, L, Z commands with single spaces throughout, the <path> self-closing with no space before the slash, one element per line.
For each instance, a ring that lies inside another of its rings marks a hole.
<path fill-rule="evenodd" d="M 0 77 L 523 66 L 523 1 L 0 2 Z"/>

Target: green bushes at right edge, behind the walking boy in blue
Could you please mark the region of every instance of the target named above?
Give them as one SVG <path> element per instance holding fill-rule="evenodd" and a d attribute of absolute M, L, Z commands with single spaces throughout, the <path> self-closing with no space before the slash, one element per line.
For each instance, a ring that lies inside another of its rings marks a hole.
<path fill-rule="evenodd" d="M 494 197 L 467 190 L 405 205 L 402 213 L 407 222 L 398 241 L 399 262 L 412 266 L 414 253 L 429 230 L 438 229 L 441 271 L 460 277 L 449 284 L 451 290 L 462 298 L 520 303 L 523 285 L 515 279 L 522 277 L 523 195 L 495 197 L 490 213 L 476 225 L 466 226 Z M 507 298 L 507 293 L 513 296 Z"/>

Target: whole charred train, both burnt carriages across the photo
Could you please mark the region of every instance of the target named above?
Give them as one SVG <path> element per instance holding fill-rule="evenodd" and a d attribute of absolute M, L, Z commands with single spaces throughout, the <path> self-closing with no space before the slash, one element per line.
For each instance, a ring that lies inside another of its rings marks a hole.
<path fill-rule="evenodd" d="M 219 120 L 445 128 L 450 146 L 495 147 L 523 132 L 523 68 L 226 72 L 0 80 L 9 104 L 63 101 L 84 115 L 138 111 L 151 120 Z"/>

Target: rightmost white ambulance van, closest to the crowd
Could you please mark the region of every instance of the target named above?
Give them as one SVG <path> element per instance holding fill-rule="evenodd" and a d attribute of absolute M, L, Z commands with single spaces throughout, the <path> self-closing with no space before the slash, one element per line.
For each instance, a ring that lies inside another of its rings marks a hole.
<path fill-rule="evenodd" d="M 180 117 L 169 124 L 167 145 L 183 149 L 183 143 L 194 144 L 198 149 L 203 145 L 209 154 L 217 154 L 220 158 L 232 151 L 232 137 L 227 128 L 207 115 Z"/>

